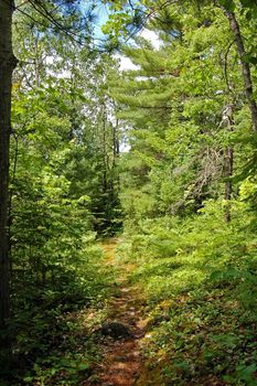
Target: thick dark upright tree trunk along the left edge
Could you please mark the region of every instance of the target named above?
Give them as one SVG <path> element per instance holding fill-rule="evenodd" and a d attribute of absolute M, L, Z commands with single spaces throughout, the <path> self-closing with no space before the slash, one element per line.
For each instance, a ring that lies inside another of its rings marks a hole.
<path fill-rule="evenodd" d="M 0 0 L 0 329 L 10 315 L 8 256 L 8 184 L 11 135 L 11 84 L 17 60 L 12 52 L 13 0 Z M 7 341 L 0 340 L 0 349 Z"/>

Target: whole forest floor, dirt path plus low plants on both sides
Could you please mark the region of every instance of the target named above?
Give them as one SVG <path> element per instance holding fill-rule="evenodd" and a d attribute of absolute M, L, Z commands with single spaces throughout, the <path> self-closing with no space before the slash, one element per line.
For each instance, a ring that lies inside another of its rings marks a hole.
<path fill-rule="evenodd" d="M 144 238 L 139 251 L 126 238 L 94 246 L 87 298 L 56 291 L 57 312 L 61 298 L 45 296 L 21 314 L 24 347 L 0 386 L 257 385 L 256 281 L 244 287 L 225 276 L 226 259 L 207 265 L 207 254 L 173 256 L 170 245 L 154 254 Z"/>

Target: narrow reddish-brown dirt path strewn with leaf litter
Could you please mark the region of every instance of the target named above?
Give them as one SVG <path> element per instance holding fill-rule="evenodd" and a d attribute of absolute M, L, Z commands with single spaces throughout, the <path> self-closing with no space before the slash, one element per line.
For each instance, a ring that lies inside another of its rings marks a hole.
<path fill-rule="evenodd" d="M 140 375 L 144 373 L 140 354 L 140 340 L 144 335 L 146 320 L 143 308 L 146 300 L 142 291 L 128 281 L 132 265 L 117 262 L 115 249 L 117 240 L 101 244 L 105 264 L 108 269 L 118 271 L 117 289 L 108 301 L 106 324 L 117 322 L 128 329 L 127 337 L 111 337 L 106 334 L 101 341 L 101 363 L 95 369 L 92 380 L 84 386 L 136 386 Z"/>

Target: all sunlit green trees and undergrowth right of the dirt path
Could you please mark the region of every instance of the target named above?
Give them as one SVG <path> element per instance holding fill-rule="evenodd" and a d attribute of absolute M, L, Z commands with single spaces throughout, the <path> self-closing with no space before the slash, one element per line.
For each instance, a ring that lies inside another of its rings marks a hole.
<path fill-rule="evenodd" d="M 131 126 L 131 149 L 121 158 L 120 255 L 137 265 L 130 280 L 148 297 L 142 350 L 159 384 L 254 385 L 256 136 L 224 11 L 235 12 L 249 37 L 245 60 L 255 87 L 256 6 L 156 6 L 148 28 L 159 46 L 141 37 L 126 46 L 138 67 L 113 85 Z"/>

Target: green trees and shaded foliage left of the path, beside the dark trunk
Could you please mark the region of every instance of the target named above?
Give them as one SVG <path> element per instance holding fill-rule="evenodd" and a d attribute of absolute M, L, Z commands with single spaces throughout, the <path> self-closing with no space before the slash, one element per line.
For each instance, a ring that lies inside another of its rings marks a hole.
<path fill-rule="evenodd" d="M 6 332 L 12 374 L 0 353 L 0 377 L 12 386 L 77 385 L 89 375 L 97 352 L 82 315 L 92 307 L 104 312 L 110 280 L 96 238 L 121 226 L 120 133 L 106 86 L 116 62 L 44 24 L 30 25 L 20 13 L 14 25 L 21 64 L 13 79 Z"/>

